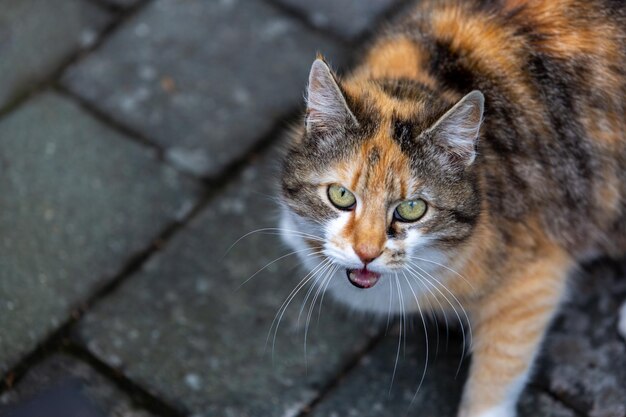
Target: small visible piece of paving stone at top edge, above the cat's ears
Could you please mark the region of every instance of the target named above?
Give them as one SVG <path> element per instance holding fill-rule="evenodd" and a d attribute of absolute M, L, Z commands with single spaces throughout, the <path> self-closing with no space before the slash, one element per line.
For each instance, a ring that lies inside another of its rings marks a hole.
<path fill-rule="evenodd" d="M 404 0 L 275 0 L 304 13 L 309 22 L 320 29 L 330 30 L 354 40 L 374 29 L 385 12 Z"/>

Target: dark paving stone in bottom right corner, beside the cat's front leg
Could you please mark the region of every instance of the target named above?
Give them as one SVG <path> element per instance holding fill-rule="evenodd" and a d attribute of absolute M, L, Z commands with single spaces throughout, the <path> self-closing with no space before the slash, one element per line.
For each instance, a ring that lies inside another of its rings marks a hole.
<path fill-rule="evenodd" d="M 626 343 L 618 331 L 626 274 L 597 264 L 573 280 L 572 299 L 546 341 L 538 384 L 591 417 L 626 417 Z"/>

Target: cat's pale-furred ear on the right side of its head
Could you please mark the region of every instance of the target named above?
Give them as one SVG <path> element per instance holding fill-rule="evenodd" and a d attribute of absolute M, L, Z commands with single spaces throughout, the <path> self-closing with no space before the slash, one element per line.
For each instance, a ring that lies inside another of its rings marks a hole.
<path fill-rule="evenodd" d="M 455 165 L 469 166 L 476 158 L 476 141 L 483 120 L 485 97 L 474 90 L 448 110 L 426 133 Z"/>

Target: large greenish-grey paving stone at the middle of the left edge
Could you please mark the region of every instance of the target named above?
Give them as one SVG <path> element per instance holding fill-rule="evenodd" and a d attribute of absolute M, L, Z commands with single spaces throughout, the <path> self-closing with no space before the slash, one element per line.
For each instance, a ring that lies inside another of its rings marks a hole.
<path fill-rule="evenodd" d="M 195 183 L 56 95 L 0 122 L 0 373 L 188 210 Z"/>

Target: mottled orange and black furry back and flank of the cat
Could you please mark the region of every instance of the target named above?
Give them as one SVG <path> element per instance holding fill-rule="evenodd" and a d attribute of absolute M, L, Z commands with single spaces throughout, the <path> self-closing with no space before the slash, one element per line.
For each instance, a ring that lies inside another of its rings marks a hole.
<path fill-rule="evenodd" d="M 540 212 L 574 252 L 626 251 L 626 2 L 423 2 L 366 56 L 374 78 L 485 95 L 494 212 Z"/>

